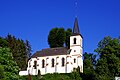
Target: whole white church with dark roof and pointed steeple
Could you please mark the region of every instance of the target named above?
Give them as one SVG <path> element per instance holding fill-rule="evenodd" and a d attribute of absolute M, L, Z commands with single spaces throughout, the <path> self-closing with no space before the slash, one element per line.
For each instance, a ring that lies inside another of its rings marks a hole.
<path fill-rule="evenodd" d="M 83 73 L 82 35 L 79 31 L 78 20 L 75 18 L 73 33 L 70 36 L 70 49 L 66 47 L 48 48 L 37 51 L 28 61 L 26 71 L 19 75 L 41 75 L 47 73 L 71 73 L 78 66 Z"/>

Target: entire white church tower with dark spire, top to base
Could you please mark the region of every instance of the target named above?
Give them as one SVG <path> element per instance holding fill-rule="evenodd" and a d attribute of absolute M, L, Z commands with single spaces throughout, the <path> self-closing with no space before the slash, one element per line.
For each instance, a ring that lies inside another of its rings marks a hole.
<path fill-rule="evenodd" d="M 76 63 L 75 61 L 73 61 L 73 67 L 77 68 L 79 66 L 80 72 L 83 72 L 82 39 L 83 37 L 79 30 L 78 19 L 75 18 L 73 33 L 70 36 L 70 49 L 71 49 L 70 55 L 72 56 L 73 59 L 76 60 Z"/>

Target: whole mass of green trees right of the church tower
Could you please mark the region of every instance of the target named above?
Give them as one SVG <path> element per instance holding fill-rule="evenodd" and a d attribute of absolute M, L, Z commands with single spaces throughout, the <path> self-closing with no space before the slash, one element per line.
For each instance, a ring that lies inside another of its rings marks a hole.
<path fill-rule="evenodd" d="M 85 53 L 84 73 L 85 80 L 114 80 L 120 76 L 120 38 L 104 37 L 95 49 L 96 55 Z"/>

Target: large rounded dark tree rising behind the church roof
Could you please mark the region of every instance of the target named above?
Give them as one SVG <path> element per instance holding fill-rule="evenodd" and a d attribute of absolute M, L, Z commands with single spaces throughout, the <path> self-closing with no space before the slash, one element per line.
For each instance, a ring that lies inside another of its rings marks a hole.
<path fill-rule="evenodd" d="M 48 35 L 48 44 L 51 48 L 63 47 L 65 42 L 64 28 L 53 28 Z"/>

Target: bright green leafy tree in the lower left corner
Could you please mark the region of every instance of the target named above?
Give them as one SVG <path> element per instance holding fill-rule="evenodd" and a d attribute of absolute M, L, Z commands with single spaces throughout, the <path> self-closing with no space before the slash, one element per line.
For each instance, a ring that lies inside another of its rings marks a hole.
<path fill-rule="evenodd" d="M 12 53 L 8 48 L 0 48 L 0 66 L 3 67 L 3 80 L 18 80 L 18 70 L 16 62 L 13 60 Z M 1 67 L 0 67 L 1 68 Z"/>

